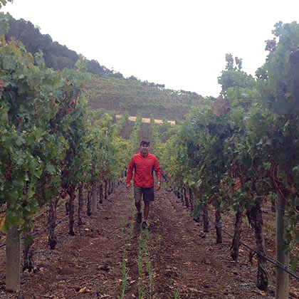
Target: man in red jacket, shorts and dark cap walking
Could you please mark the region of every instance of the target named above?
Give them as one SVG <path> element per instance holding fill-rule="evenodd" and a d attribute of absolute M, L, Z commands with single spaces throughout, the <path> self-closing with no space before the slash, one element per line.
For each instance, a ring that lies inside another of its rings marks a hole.
<path fill-rule="evenodd" d="M 147 227 L 147 217 L 150 211 L 150 201 L 154 201 L 154 172 L 158 180 L 157 191 L 161 188 L 161 169 L 157 157 L 149 153 L 150 142 L 142 140 L 140 142 L 140 153 L 135 154 L 127 168 L 127 189 L 130 190 L 131 179 L 134 169 L 134 196 L 135 206 L 137 209 L 137 223 L 142 221 L 141 213 L 141 197 L 143 194 L 143 201 L 145 202 L 145 209 L 143 213 L 144 221 L 142 222 L 142 229 Z"/>

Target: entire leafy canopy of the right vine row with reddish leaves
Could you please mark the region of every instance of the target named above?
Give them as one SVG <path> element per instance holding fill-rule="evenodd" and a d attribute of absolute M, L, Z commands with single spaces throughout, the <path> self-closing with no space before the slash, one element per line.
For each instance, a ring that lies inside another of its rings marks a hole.
<path fill-rule="evenodd" d="M 267 41 L 270 53 L 256 78 L 226 55 L 219 98 L 194 107 L 157 155 L 177 187 L 193 190 L 196 210 L 220 201 L 243 211 L 282 194 L 288 249 L 299 239 L 299 25 L 277 23 L 273 33 L 278 43 Z"/>

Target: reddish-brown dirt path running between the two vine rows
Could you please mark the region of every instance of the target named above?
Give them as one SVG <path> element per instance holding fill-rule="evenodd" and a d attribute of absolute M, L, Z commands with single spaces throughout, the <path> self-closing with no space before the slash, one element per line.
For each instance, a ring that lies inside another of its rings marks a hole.
<path fill-rule="evenodd" d="M 2 250 L 0 298 L 273 298 L 273 285 L 268 294 L 257 290 L 256 267 L 246 258 L 234 263 L 230 240 L 216 245 L 214 228 L 203 234 L 172 192 L 157 192 L 149 220 L 142 231 L 132 192 L 120 185 L 75 236 L 66 235 L 67 223 L 58 227 L 56 250 L 46 246 L 46 234 L 38 235 L 40 271 L 23 273 L 17 294 L 4 293 Z"/>

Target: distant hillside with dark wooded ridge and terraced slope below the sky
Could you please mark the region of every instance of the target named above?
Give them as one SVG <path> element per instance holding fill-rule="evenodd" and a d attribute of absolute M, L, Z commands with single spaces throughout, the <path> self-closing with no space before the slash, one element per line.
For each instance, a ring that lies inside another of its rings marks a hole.
<path fill-rule="evenodd" d="M 33 56 L 43 51 L 48 68 L 62 70 L 75 68 L 79 55 L 73 50 L 53 41 L 48 34 L 41 34 L 40 28 L 30 21 L 9 18 L 9 32 L 6 40 L 11 38 L 21 41 Z M 87 61 L 88 72 L 92 79 L 86 85 L 89 93 L 90 107 L 114 110 L 119 114 L 128 112 L 132 116 L 140 113 L 142 117 L 154 117 L 167 120 L 183 120 L 192 106 L 202 105 L 209 98 L 184 90 L 170 90 L 163 84 L 149 83 L 135 78 L 124 78 L 120 72 L 109 70 L 98 61 Z"/>

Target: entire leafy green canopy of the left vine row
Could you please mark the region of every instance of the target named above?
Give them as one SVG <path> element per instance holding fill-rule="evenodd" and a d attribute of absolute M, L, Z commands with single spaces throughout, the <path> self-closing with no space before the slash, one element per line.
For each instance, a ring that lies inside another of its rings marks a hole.
<path fill-rule="evenodd" d="M 110 115 L 88 112 L 83 57 L 75 70 L 53 70 L 41 51 L 33 58 L 21 42 L 0 41 L 1 229 L 27 231 L 39 207 L 61 189 L 71 195 L 79 182 L 115 179 L 129 147 Z"/>

